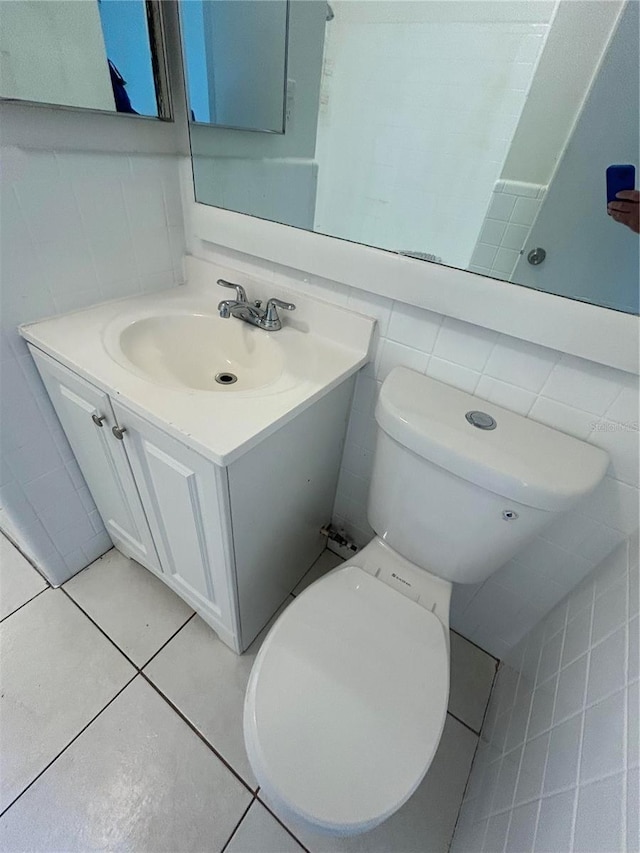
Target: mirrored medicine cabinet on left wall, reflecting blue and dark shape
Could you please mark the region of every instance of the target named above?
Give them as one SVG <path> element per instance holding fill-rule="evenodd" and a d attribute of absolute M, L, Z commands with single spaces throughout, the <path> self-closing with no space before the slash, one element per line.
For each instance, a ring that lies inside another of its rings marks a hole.
<path fill-rule="evenodd" d="M 167 92 L 159 3 L 0 3 L 0 97 L 169 118 Z"/>

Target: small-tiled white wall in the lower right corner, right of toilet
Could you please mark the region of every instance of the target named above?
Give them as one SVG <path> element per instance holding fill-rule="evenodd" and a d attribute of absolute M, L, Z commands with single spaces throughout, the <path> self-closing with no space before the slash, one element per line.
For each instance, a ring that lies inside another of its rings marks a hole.
<path fill-rule="evenodd" d="M 638 539 L 498 671 L 452 853 L 620 853 L 638 835 Z"/>

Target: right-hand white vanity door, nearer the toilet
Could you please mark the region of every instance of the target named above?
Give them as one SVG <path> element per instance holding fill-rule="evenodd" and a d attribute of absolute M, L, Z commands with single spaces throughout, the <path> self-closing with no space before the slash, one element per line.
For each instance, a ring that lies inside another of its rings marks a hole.
<path fill-rule="evenodd" d="M 239 651 L 226 469 L 112 403 L 164 580 Z"/>

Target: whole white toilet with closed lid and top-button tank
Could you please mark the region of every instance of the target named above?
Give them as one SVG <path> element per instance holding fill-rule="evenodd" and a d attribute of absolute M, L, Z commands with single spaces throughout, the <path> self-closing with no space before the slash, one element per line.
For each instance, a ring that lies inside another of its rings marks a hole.
<path fill-rule="evenodd" d="M 608 464 L 592 445 L 401 367 L 376 420 L 377 536 L 276 621 L 244 707 L 267 800 L 336 835 L 381 823 L 429 769 L 449 696 L 451 584 L 485 580 Z"/>

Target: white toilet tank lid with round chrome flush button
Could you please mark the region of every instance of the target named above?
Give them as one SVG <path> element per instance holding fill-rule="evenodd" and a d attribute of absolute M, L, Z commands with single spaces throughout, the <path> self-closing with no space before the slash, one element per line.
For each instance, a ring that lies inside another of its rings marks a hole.
<path fill-rule="evenodd" d="M 466 419 L 481 411 L 495 429 Z M 376 406 L 391 438 L 458 477 L 525 506 L 571 507 L 604 477 L 609 455 L 598 447 L 466 394 L 406 367 L 394 368 Z"/>

